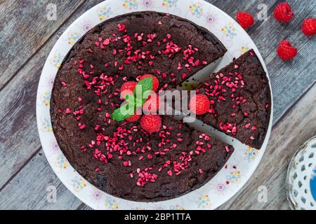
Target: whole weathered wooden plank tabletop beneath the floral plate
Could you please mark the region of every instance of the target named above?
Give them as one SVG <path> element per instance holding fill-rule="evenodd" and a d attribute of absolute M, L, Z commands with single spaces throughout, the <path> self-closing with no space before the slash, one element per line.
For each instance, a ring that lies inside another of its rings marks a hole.
<path fill-rule="evenodd" d="M 99 2 L 0 0 L 0 209 L 88 209 L 48 165 L 37 133 L 35 100 L 48 52 L 76 18 Z M 261 164 L 220 209 L 289 209 L 287 165 L 296 148 L 316 134 L 315 36 L 301 32 L 303 19 L 316 16 L 316 1 L 289 0 L 295 17 L 284 25 L 273 19 L 281 0 L 209 2 L 233 18 L 240 10 L 256 15 L 258 4 L 266 3 L 268 20 L 256 20 L 248 33 L 268 66 L 275 101 L 272 134 Z M 47 20 L 48 3 L 57 5 L 57 21 Z M 284 38 L 299 51 L 291 62 L 282 62 L 276 54 Z M 48 186 L 57 188 L 56 203 L 46 200 Z M 268 202 L 258 202 L 258 186 L 268 188 Z"/>

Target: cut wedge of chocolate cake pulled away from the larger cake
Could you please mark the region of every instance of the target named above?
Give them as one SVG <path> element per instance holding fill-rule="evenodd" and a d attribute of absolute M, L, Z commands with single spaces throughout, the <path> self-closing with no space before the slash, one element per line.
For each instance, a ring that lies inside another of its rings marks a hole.
<path fill-rule="evenodd" d="M 197 87 L 210 102 L 209 113 L 197 116 L 207 125 L 261 148 L 270 122 L 268 78 L 254 50 L 249 50 Z"/>

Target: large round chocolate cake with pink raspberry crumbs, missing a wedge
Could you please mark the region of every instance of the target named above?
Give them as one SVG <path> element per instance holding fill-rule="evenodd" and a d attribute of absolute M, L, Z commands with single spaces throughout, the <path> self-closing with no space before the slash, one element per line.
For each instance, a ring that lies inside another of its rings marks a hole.
<path fill-rule="evenodd" d="M 159 201 L 199 188 L 234 150 L 168 116 L 159 132 L 116 121 L 120 88 L 150 73 L 159 90 L 183 83 L 226 52 L 194 23 L 154 12 L 121 15 L 98 25 L 70 50 L 55 78 L 51 122 L 74 169 L 111 195 Z"/>

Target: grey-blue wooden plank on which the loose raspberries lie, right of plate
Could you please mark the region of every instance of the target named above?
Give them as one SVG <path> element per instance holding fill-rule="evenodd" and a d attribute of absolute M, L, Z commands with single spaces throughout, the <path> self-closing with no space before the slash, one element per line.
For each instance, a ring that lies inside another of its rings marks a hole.
<path fill-rule="evenodd" d="M 249 31 L 268 67 L 275 100 L 274 122 L 316 80 L 316 55 L 312 53 L 316 46 L 315 36 L 310 38 L 301 32 L 303 20 L 316 15 L 316 1 L 289 3 L 295 13 L 291 22 L 275 22 L 270 14 L 267 21 L 257 22 L 258 27 Z M 288 39 L 298 48 L 298 56 L 291 62 L 282 62 L 277 57 L 277 45 L 283 39 Z"/>

